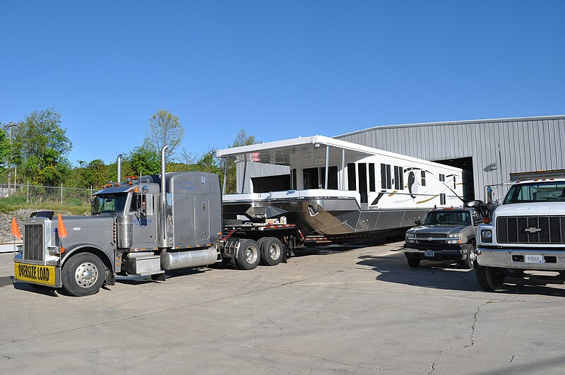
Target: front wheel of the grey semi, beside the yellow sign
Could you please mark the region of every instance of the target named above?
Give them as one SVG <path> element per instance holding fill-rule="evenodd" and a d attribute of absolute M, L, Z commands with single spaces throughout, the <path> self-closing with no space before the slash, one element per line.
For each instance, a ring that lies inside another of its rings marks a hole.
<path fill-rule="evenodd" d="M 76 297 L 89 296 L 104 284 L 105 266 L 102 260 L 90 253 L 73 256 L 63 266 L 63 287 Z"/>

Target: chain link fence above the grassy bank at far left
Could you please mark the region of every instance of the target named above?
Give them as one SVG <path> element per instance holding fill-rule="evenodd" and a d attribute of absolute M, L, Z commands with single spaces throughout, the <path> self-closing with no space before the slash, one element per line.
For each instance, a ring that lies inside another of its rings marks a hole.
<path fill-rule="evenodd" d="M 59 203 L 61 205 L 82 206 L 90 204 L 93 194 L 90 189 L 61 186 L 39 186 L 30 184 L 0 184 L 0 199 L 13 198 L 21 203 Z"/>

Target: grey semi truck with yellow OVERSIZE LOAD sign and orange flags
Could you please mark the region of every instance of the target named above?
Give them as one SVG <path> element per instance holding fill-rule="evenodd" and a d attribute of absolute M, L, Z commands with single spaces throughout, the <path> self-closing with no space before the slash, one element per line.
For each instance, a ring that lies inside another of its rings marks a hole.
<path fill-rule="evenodd" d="M 93 194 L 90 215 L 33 213 L 23 235 L 13 220 L 14 236 L 23 239 L 14 254 L 16 280 L 81 297 L 114 285 L 116 275 L 165 280 L 167 270 L 217 262 L 242 270 L 276 266 L 304 244 L 285 220 L 224 226 L 218 175 L 166 173 L 165 150 L 160 174 L 124 181 L 119 155 L 117 182 Z"/>

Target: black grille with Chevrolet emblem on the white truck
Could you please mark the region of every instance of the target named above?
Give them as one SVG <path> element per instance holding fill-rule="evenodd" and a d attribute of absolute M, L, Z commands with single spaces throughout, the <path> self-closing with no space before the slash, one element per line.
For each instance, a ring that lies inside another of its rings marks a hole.
<path fill-rule="evenodd" d="M 509 216 L 496 219 L 499 244 L 563 244 L 565 216 Z"/>

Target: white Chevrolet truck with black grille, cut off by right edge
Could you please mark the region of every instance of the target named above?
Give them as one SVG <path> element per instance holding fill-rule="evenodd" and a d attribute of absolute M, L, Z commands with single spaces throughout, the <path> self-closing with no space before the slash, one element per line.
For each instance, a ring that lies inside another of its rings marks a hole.
<path fill-rule="evenodd" d="M 476 273 L 482 289 L 499 290 L 506 277 L 530 278 L 525 271 L 554 271 L 563 280 L 565 179 L 517 181 L 477 228 L 477 236 Z"/>

